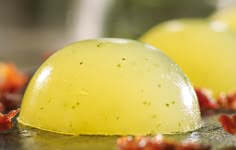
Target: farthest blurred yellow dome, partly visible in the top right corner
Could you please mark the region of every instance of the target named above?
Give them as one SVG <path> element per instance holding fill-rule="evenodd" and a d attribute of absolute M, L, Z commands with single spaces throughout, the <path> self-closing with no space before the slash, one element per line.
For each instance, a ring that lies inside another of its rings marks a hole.
<path fill-rule="evenodd" d="M 213 21 L 225 23 L 229 28 L 236 31 L 236 6 L 220 9 L 210 16 Z"/>

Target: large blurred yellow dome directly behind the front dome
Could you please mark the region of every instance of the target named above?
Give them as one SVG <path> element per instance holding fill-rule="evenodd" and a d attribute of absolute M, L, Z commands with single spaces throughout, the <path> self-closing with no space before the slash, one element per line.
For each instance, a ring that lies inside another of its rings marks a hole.
<path fill-rule="evenodd" d="M 173 20 L 152 28 L 140 40 L 163 50 L 194 86 L 210 88 L 216 95 L 236 90 L 236 34 L 224 25 Z"/>

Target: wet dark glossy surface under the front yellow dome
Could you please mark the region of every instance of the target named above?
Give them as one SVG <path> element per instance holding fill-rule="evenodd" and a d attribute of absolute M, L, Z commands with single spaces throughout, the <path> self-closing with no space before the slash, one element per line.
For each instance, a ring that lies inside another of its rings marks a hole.
<path fill-rule="evenodd" d="M 177 141 L 210 144 L 213 150 L 235 150 L 236 136 L 226 133 L 218 123 L 220 113 L 204 117 L 204 126 L 194 132 L 166 135 Z M 68 136 L 24 127 L 0 133 L 0 149 L 6 150 L 116 150 L 118 136 Z"/>

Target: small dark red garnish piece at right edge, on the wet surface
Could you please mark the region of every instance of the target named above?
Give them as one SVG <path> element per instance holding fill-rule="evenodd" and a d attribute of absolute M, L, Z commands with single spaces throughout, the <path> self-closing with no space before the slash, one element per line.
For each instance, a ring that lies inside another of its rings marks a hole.
<path fill-rule="evenodd" d="M 227 115 L 221 115 L 219 117 L 219 122 L 225 131 L 230 134 L 236 134 L 236 114 L 234 114 L 232 118 Z"/>

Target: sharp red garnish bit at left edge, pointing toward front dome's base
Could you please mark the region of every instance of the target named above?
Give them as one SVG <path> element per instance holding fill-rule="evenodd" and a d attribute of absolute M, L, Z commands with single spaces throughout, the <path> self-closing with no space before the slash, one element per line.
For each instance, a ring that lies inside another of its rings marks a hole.
<path fill-rule="evenodd" d="M 12 118 L 14 118 L 20 109 L 12 110 L 8 114 L 0 113 L 0 131 L 8 130 L 13 127 Z"/>

